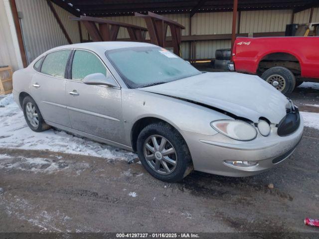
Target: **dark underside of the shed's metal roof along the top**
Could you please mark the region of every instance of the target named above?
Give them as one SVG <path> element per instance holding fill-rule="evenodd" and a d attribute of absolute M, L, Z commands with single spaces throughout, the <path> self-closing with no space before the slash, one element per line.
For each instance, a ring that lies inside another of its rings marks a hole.
<path fill-rule="evenodd" d="M 134 15 L 134 12 L 158 14 L 232 11 L 233 0 L 52 0 L 74 15 L 103 17 Z M 319 0 L 239 0 L 238 10 L 293 9 L 295 12 L 319 6 Z"/>

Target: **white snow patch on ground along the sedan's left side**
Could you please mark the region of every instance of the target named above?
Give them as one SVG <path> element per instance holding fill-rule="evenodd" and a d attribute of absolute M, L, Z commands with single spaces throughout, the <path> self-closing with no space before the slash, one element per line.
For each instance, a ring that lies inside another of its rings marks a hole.
<path fill-rule="evenodd" d="M 107 144 L 49 129 L 34 132 L 26 124 L 23 112 L 12 94 L 0 100 L 0 147 L 50 150 L 119 160 L 133 160 L 137 155 Z"/>

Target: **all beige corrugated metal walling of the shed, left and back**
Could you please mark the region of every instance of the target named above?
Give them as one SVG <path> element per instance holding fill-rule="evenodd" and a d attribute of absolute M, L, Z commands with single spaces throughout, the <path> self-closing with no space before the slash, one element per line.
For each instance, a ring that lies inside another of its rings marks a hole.
<path fill-rule="evenodd" d="M 16 0 L 16 4 L 18 11 L 22 12 L 20 20 L 29 62 L 52 47 L 68 44 L 45 0 Z M 74 43 L 79 42 L 77 22 L 68 19 L 71 15 L 69 12 L 57 5 L 54 5 L 54 7 L 72 41 Z M 185 26 L 182 35 L 189 34 L 189 14 L 166 14 L 164 16 Z M 310 9 L 307 9 L 296 13 L 294 22 L 307 23 L 309 17 Z M 114 16 L 106 18 L 146 27 L 145 20 L 141 17 Z M 285 31 L 286 24 L 291 22 L 291 18 L 292 10 L 242 11 L 240 33 Z M 319 22 L 319 8 L 314 9 L 313 21 Z M 3 21 L 1 20 L 1 22 Z M 232 12 L 196 13 L 191 19 L 191 24 L 192 35 L 230 34 Z M 84 25 L 81 25 L 83 39 L 88 39 Z M 167 35 L 170 35 L 169 29 Z M 120 28 L 118 38 L 129 38 L 125 28 Z M 147 39 L 149 39 L 148 34 Z M 0 41 L 3 42 L 4 40 L 0 38 Z M 230 48 L 230 44 L 230 40 L 197 41 L 195 43 L 195 58 L 214 58 L 216 49 Z M 181 54 L 183 58 L 189 57 L 189 49 L 190 43 L 182 42 Z M 1 50 L 1 52 L 3 51 Z M 7 54 L 0 53 L 2 58 L 5 55 Z"/>

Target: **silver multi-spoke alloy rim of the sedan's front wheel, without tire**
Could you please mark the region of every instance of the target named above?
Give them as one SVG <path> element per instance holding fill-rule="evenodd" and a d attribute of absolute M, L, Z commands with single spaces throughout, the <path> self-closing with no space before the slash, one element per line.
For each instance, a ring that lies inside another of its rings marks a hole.
<path fill-rule="evenodd" d="M 173 145 L 163 136 L 151 135 L 144 143 L 144 156 L 150 167 L 160 174 L 172 173 L 177 165 Z"/>

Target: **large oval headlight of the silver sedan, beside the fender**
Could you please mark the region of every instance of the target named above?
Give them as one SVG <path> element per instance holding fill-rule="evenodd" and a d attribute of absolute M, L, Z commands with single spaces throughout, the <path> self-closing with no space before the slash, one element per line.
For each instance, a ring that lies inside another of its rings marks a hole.
<path fill-rule="evenodd" d="M 256 128 L 242 120 L 222 119 L 212 121 L 210 125 L 218 132 L 236 140 L 249 141 L 257 136 Z"/>

